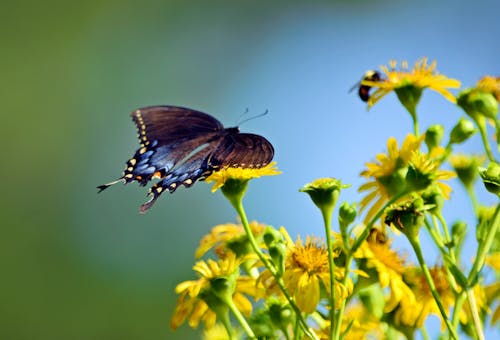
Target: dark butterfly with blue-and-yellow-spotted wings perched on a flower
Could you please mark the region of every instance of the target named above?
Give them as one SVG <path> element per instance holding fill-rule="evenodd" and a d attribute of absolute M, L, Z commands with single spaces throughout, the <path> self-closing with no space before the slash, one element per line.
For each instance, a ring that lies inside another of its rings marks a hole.
<path fill-rule="evenodd" d="M 98 186 L 101 192 L 123 182 L 141 186 L 158 179 L 149 189 L 151 199 L 141 205 L 145 213 L 158 197 L 179 186 L 190 187 L 224 167 L 260 168 L 274 156 L 272 144 L 262 136 L 224 128 L 209 114 L 179 106 L 149 106 L 131 113 L 141 147 L 126 162 L 123 175 Z"/>

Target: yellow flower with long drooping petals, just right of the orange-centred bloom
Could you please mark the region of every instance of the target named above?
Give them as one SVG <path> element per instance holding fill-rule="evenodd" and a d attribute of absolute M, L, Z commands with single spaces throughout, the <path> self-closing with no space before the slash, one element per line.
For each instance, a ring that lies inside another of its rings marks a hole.
<path fill-rule="evenodd" d="M 385 312 L 394 310 L 401 300 L 406 300 L 409 304 L 415 303 L 413 292 L 403 281 L 405 259 L 391 249 L 391 241 L 384 232 L 377 228 L 370 230 L 366 242 L 355 256 L 358 260 L 364 260 L 361 262 L 361 270 L 368 273 L 374 271 L 380 286 L 390 287 L 391 295 L 386 302 Z"/>

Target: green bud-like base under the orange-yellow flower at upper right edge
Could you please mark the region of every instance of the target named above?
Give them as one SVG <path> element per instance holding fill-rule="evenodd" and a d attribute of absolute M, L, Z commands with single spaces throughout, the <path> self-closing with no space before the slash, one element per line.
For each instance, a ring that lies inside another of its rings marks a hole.
<path fill-rule="evenodd" d="M 495 96 L 478 89 L 467 89 L 460 92 L 457 105 L 474 120 L 477 120 L 478 116 L 496 119 L 498 113 L 498 102 Z"/>

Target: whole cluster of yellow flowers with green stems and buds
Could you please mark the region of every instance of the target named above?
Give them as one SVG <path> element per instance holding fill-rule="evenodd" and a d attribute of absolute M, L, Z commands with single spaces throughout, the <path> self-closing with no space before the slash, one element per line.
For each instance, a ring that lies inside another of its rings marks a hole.
<path fill-rule="evenodd" d="M 319 209 L 324 235 L 291 237 L 284 227 L 249 222 L 243 208 L 250 180 L 279 174 L 275 163 L 214 172 L 206 181 L 221 189 L 239 223 L 217 225 L 201 239 L 193 267 L 198 279 L 176 287 L 172 328 L 203 325 L 205 339 L 413 339 L 417 332 L 428 338 L 433 315 L 447 338 L 484 339 L 485 327 L 500 324 L 500 205 L 485 207 L 476 196 L 478 188 L 500 195 L 500 78 L 485 76 L 455 95 L 450 89 L 460 82 L 423 58 L 412 69 L 391 61 L 359 86 L 370 108 L 394 92 L 413 119 L 403 140 L 389 137 L 387 150 L 366 163 L 360 201 L 337 208 L 349 186 L 332 177 L 306 184 L 299 191 Z M 419 133 L 417 106 L 426 89 L 467 118 Z M 492 127 L 496 139 L 488 136 Z M 455 152 L 477 131 L 484 154 Z M 455 177 L 475 213 L 472 226 L 443 214 Z M 431 264 L 422 233 L 439 252 Z M 478 244 L 472 264 L 462 253 L 471 233 Z M 398 237 L 406 237 L 410 252 L 393 247 Z"/>

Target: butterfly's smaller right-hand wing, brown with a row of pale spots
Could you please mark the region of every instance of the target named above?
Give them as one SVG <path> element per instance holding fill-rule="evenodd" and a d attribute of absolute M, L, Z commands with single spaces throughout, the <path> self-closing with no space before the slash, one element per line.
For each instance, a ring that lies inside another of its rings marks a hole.
<path fill-rule="evenodd" d="M 273 156 L 274 148 L 264 137 L 251 133 L 230 132 L 224 136 L 211 155 L 209 166 L 261 168 L 269 164 Z"/>

